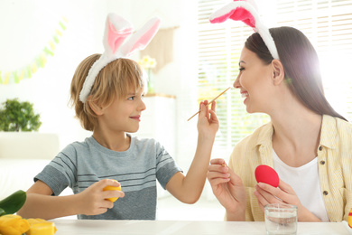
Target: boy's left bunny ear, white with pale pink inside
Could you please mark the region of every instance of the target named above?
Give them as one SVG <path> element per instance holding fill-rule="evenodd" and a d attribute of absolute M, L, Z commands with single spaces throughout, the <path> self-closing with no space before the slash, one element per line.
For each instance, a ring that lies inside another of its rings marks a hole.
<path fill-rule="evenodd" d="M 115 54 L 120 45 L 125 41 L 125 38 L 133 33 L 133 26 L 123 17 L 117 14 L 107 15 L 106 32 L 103 39 L 103 44 L 106 52 Z"/>

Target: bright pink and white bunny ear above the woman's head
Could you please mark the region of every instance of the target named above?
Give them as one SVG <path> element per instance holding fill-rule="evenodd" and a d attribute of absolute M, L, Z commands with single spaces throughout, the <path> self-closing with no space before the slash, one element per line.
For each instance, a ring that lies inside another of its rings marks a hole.
<path fill-rule="evenodd" d="M 252 14 L 255 10 L 253 6 L 245 1 L 234 1 L 228 5 L 223 6 L 210 15 L 210 23 L 223 23 L 228 18 L 234 21 L 242 21 L 245 24 L 255 29 L 255 15 Z"/>

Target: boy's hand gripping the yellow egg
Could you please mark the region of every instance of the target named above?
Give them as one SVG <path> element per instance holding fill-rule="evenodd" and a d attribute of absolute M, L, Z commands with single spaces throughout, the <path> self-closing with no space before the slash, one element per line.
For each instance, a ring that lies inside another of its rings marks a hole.
<path fill-rule="evenodd" d="M 118 187 L 120 183 L 104 179 L 97 183 L 93 183 L 86 190 L 79 193 L 79 208 L 81 214 L 97 215 L 107 212 L 107 209 L 114 207 L 114 202 L 110 202 L 109 198 L 124 197 L 125 193 L 116 190 L 104 191 L 107 186 Z"/>

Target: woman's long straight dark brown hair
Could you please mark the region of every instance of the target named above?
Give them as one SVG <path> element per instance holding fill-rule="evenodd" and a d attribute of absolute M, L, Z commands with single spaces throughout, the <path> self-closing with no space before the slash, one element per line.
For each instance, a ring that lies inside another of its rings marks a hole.
<path fill-rule="evenodd" d="M 320 74 L 318 54 L 309 39 L 301 31 L 292 27 L 271 28 L 280 61 L 283 63 L 285 81 L 292 93 L 307 108 L 320 115 L 346 118 L 339 115 L 325 98 Z M 273 56 L 259 33 L 253 33 L 245 42 L 245 47 L 269 64 Z"/>

